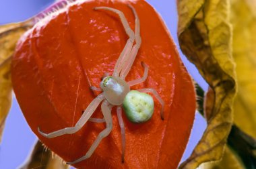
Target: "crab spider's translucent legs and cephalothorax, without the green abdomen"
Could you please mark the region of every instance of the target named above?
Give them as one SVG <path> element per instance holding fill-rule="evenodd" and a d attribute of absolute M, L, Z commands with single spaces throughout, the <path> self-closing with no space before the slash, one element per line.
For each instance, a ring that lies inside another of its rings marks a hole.
<path fill-rule="evenodd" d="M 94 150 L 96 150 L 98 144 L 100 144 L 100 141 L 106 137 L 113 127 L 113 121 L 111 116 L 111 110 L 114 106 L 117 106 L 117 117 L 119 120 L 119 125 L 121 127 L 121 141 L 122 141 L 122 162 L 124 162 L 124 156 L 125 156 L 125 126 L 122 119 L 122 108 L 123 102 L 125 100 L 125 97 L 128 93 L 130 93 L 130 87 L 139 84 L 141 82 L 144 82 L 148 76 L 148 65 L 145 63 L 141 63 L 144 68 L 143 77 L 135 80 L 131 80 L 129 82 L 125 81 L 125 77 L 127 76 L 129 70 L 131 69 L 131 66 L 133 65 L 133 61 L 135 60 L 135 57 L 137 55 L 137 52 L 139 50 L 139 47 L 141 46 L 141 37 L 140 37 L 140 30 L 139 30 L 139 17 L 137 16 L 137 13 L 135 9 L 129 5 L 131 10 L 133 11 L 133 15 L 135 15 L 135 33 L 133 30 L 131 30 L 131 27 L 129 26 L 129 23 L 127 19 L 125 19 L 125 15 L 122 11 L 119 11 L 117 9 L 111 8 L 111 7 L 95 7 L 94 10 L 107 10 L 112 11 L 114 13 L 117 13 L 121 19 L 121 22 L 123 24 L 123 27 L 125 28 L 126 34 L 129 36 L 129 39 L 127 40 L 127 43 L 125 44 L 125 47 L 123 48 L 123 51 L 121 52 L 117 63 L 115 64 L 114 72 L 112 76 L 109 76 L 109 74 L 106 74 L 106 76 L 103 78 L 103 80 L 100 82 L 100 88 L 97 87 L 91 87 L 90 89 L 94 91 L 102 91 L 100 95 L 98 95 L 91 103 L 88 105 L 86 110 L 84 111 L 82 117 L 80 117 L 79 121 L 75 124 L 74 127 L 66 127 L 64 129 L 59 129 L 57 131 L 53 131 L 52 133 L 43 133 L 40 131 L 38 127 L 38 132 L 43 135 L 44 137 L 52 138 L 57 137 L 64 134 L 72 134 L 77 132 L 79 129 L 81 129 L 84 124 L 86 124 L 87 121 L 92 121 L 95 123 L 106 123 L 106 129 L 101 131 L 96 137 L 96 140 L 88 150 L 85 156 L 82 156 L 81 158 L 73 161 L 73 162 L 67 162 L 67 164 L 75 164 L 77 162 L 81 162 L 82 160 L 86 160 L 87 158 L 90 158 Z M 135 44 L 133 45 L 135 41 Z M 162 105 L 162 109 L 160 112 L 160 116 L 162 119 L 164 119 L 164 101 L 162 101 L 161 97 L 158 95 L 158 93 L 154 89 L 139 89 L 137 90 L 141 93 L 152 93 L 154 97 L 160 102 Z M 149 95 L 150 96 L 150 95 Z M 102 114 L 104 116 L 104 119 L 96 119 L 96 118 L 90 118 L 92 116 L 92 113 L 96 110 L 98 105 L 102 102 L 101 110 Z M 153 102 L 154 106 L 154 102 Z"/>

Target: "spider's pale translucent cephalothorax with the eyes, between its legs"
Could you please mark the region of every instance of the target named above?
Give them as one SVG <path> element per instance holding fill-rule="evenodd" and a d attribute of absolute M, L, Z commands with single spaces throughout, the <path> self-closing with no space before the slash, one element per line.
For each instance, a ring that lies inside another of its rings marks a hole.
<path fill-rule="evenodd" d="M 106 76 L 100 82 L 104 97 L 111 105 L 121 105 L 130 91 L 129 84 L 119 77 Z"/>

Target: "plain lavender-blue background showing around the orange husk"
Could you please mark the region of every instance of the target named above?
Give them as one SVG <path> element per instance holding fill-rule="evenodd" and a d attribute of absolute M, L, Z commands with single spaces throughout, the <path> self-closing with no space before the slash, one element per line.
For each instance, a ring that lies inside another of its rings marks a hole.
<path fill-rule="evenodd" d="M 0 25 L 24 21 L 33 15 L 36 15 L 46 7 L 51 5 L 53 0 L 1 0 L 0 1 Z M 176 0 L 148 0 L 164 19 L 174 42 L 178 44 L 177 39 L 177 9 Z M 179 51 L 180 52 L 180 51 Z M 181 54 L 181 52 L 180 52 Z M 185 56 L 181 54 L 181 58 L 189 73 L 201 87 L 206 90 L 207 84 L 199 75 L 193 64 L 187 61 Z M 185 160 L 192 152 L 193 148 L 199 141 L 206 123 L 197 113 L 193 131 L 189 139 L 189 144 L 183 156 Z M 32 146 L 36 143 L 37 137 L 32 133 L 30 127 L 26 123 L 20 107 L 13 95 L 13 105 L 5 123 L 3 139 L 0 144 L 0 168 L 13 169 L 19 168 L 25 161 L 32 150 Z M 44 166 L 44 164 L 42 164 Z M 40 168 L 40 166 L 38 166 Z"/>

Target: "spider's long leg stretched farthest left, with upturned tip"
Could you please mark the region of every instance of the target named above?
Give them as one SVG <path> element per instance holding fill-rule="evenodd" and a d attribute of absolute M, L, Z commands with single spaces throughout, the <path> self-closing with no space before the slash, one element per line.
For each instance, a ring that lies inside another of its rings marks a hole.
<path fill-rule="evenodd" d="M 82 117 L 80 117 L 79 121 L 77 121 L 77 123 L 75 124 L 74 127 L 66 127 L 64 129 L 59 129 L 57 131 L 53 131 L 52 133 L 44 133 L 44 132 L 40 131 L 40 128 L 38 127 L 38 132 L 41 135 L 43 135 L 44 137 L 48 137 L 48 138 L 53 138 L 53 137 L 57 137 L 59 135 L 64 135 L 64 134 L 75 133 L 76 131 L 78 131 L 79 129 L 81 129 L 84 126 L 84 124 L 88 121 L 88 119 L 90 119 L 90 117 L 92 116 L 92 113 L 94 113 L 94 111 L 96 110 L 96 108 L 98 107 L 100 102 L 103 101 L 103 99 L 104 99 L 103 93 L 98 95 L 98 97 L 96 97 L 90 103 L 90 105 L 88 105 L 88 107 L 84 111 Z"/>

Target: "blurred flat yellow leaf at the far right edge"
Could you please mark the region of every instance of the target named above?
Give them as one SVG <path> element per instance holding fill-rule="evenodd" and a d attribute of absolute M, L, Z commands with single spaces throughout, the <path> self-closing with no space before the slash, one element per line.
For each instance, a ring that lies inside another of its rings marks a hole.
<path fill-rule="evenodd" d="M 238 95 L 234 123 L 256 139 L 256 1 L 232 0 L 233 56 Z"/>

